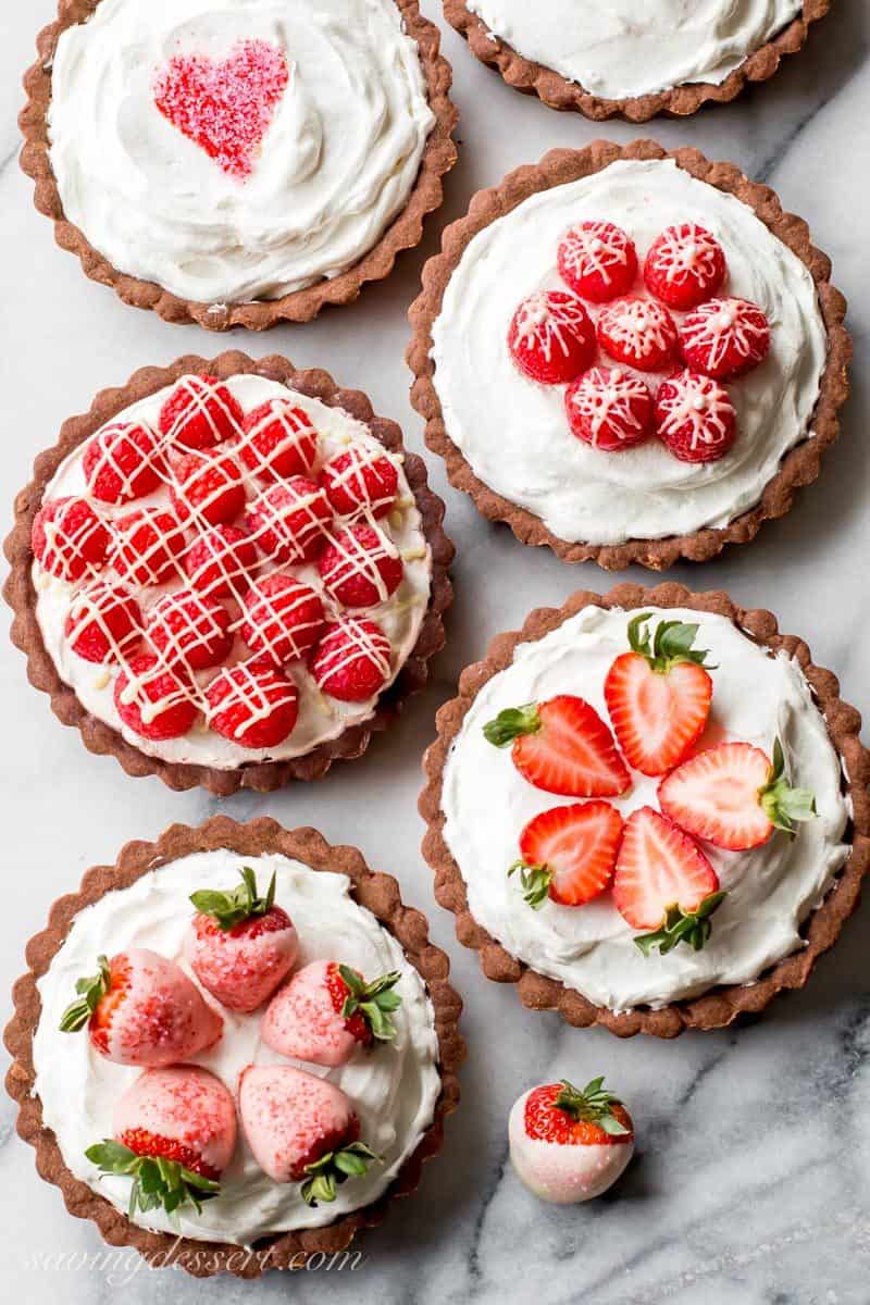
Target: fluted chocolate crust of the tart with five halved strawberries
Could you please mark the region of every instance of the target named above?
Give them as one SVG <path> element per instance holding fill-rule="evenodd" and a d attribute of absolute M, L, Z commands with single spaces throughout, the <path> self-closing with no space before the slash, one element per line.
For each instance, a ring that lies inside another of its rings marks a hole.
<path fill-rule="evenodd" d="M 823 714 L 828 737 L 844 767 L 844 791 L 852 801 L 852 825 L 848 839 L 852 851 L 847 864 L 828 891 L 818 911 L 811 912 L 803 925 L 806 946 L 784 957 L 751 984 L 716 985 L 685 1001 L 674 1001 L 661 1010 L 637 1006 L 633 1010 L 612 1011 L 587 1001 L 573 988 L 556 979 L 531 970 L 511 957 L 493 938 L 468 910 L 466 885 L 443 839 L 445 816 L 441 809 L 443 767 L 466 713 L 483 685 L 513 660 L 518 643 L 540 639 L 583 607 L 620 607 L 626 611 L 647 607 L 689 607 L 698 612 L 716 612 L 728 617 L 755 643 L 772 652 L 784 650 L 797 658 Z M 656 1037 L 676 1037 L 686 1028 L 723 1028 L 740 1015 L 758 1014 L 768 1002 L 789 988 L 802 988 L 815 962 L 836 942 L 844 921 L 856 910 L 861 894 L 861 881 L 870 865 L 870 753 L 858 737 L 861 715 L 854 707 L 840 701 L 840 686 L 831 671 L 813 664 L 806 643 L 792 634 L 780 634 L 772 612 L 746 611 L 724 592 L 693 594 L 681 585 L 663 583 L 656 589 L 640 585 L 616 585 L 608 594 L 599 595 L 579 590 L 561 608 L 537 608 L 528 615 L 522 630 L 498 634 L 489 645 L 483 662 L 466 667 L 459 680 L 459 696 L 445 703 L 437 716 L 438 737 L 424 757 L 427 784 L 420 795 L 420 814 L 428 825 L 423 842 L 423 855 L 434 872 L 437 900 L 457 917 L 457 937 L 466 947 L 480 954 L 480 967 L 496 983 L 513 983 L 524 1006 L 532 1010 L 557 1010 L 569 1024 L 586 1028 L 603 1024 L 618 1037 L 634 1034 L 652 1034 Z"/>

